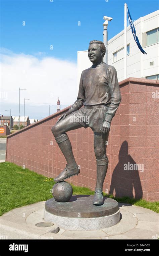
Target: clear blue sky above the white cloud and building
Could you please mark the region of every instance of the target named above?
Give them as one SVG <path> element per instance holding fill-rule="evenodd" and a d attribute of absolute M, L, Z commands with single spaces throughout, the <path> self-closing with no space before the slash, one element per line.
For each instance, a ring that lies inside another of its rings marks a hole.
<path fill-rule="evenodd" d="M 77 51 L 86 50 L 90 40 L 102 41 L 104 15 L 113 17 L 109 22 L 108 40 L 123 29 L 125 1 L 51 1 L 2 0 L 1 47 L 14 53 L 38 54 L 40 57 L 40 52 L 42 56 L 76 62 Z M 158 9 L 158 1 L 153 0 L 126 3 L 133 20 Z"/>

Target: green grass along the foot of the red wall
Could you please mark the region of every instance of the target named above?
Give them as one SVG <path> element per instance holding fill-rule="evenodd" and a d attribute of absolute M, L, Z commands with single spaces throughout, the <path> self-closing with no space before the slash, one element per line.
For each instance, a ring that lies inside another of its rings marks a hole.
<path fill-rule="evenodd" d="M 29 169 L 10 163 L 0 163 L 0 216 L 14 208 L 45 201 L 52 198 L 50 190 L 55 182 Z M 72 184 L 71 184 L 72 185 Z M 94 191 L 83 187 L 73 187 L 73 195 L 94 195 Z M 159 202 L 147 202 L 129 197 L 116 198 L 118 202 L 134 204 L 159 212 Z"/>

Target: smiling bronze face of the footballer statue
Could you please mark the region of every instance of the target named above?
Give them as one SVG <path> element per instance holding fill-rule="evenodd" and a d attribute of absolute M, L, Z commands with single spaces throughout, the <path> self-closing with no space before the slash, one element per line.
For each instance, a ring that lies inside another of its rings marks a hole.
<path fill-rule="evenodd" d="M 91 62 L 98 62 L 102 60 L 102 55 L 100 44 L 90 44 L 88 48 L 88 57 Z"/>

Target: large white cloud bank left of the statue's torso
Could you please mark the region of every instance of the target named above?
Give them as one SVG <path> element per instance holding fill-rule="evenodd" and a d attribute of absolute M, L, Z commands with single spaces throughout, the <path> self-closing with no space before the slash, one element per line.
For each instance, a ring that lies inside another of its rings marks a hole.
<path fill-rule="evenodd" d="M 40 53 L 40 56 L 43 54 Z M 1 53 L 1 101 L 18 103 L 30 99 L 30 104 L 57 103 L 71 105 L 77 98 L 77 66 L 53 57 L 37 58 L 38 54 L 14 54 L 7 49 Z"/>

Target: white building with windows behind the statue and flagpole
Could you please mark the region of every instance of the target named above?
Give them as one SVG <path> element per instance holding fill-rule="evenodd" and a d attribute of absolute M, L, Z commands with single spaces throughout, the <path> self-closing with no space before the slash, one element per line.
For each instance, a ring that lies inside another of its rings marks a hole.
<path fill-rule="evenodd" d="M 113 21 L 112 21 L 113 22 Z M 136 35 L 143 54 L 133 37 L 130 26 L 127 27 L 127 78 L 147 78 L 159 80 L 159 10 L 134 21 Z M 108 33 L 109 33 L 108 25 Z M 99 40 L 98 38 L 96 40 Z M 108 64 L 117 70 L 118 81 L 124 80 L 124 30 L 108 41 Z M 77 52 L 78 86 L 81 73 L 91 67 L 88 51 Z"/>

